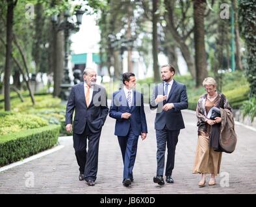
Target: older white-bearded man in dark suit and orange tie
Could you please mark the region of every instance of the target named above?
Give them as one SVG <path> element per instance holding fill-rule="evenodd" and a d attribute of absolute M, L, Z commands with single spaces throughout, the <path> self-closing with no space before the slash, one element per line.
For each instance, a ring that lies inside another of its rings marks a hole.
<path fill-rule="evenodd" d="M 83 72 L 83 83 L 74 85 L 66 107 L 66 130 L 72 130 L 73 147 L 79 165 L 79 180 L 86 180 L 88 186 L 94 186 L 97 175 L 99 137 L 105 123 L 109 108 L 107 93 L 96 84 L 96 71 L 86 68 Z M 86 151 L 88 139 L 88 151 Z"/>

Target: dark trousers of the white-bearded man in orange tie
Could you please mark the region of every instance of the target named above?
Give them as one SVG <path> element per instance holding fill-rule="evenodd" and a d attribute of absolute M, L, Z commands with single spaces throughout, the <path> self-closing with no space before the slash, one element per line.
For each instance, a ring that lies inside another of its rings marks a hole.
<path fill-rule="evenodd" d="M 99 153 L 99 137 L 101 130 L 92 133 L 88 126 L 84 127 L 83 134 L 73 133 L 73 147 L 75 149 L 75 157 L 79 165 L 80 173 L 84 174 L 85 180 L 96 180 L 97 178 L 97 162 Z M 86 151 L 88 139 L 88 151 Z"/>

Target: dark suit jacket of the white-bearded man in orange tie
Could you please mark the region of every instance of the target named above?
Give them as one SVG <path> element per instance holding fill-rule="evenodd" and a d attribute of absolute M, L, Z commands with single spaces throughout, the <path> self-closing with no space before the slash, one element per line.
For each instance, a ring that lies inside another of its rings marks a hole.
<path fill-rule="evenodd" d="M 82 134 L 86 124 L 92 133 L 100 131 L 109 113 L 106 90 L 100 85 L 94 85 L 92 102 L 87 106 L 84 96 L 84 82 L 74 85 L 66 107 L 66 124 L 72 124 L 74 109 L 74 133 Z"/>

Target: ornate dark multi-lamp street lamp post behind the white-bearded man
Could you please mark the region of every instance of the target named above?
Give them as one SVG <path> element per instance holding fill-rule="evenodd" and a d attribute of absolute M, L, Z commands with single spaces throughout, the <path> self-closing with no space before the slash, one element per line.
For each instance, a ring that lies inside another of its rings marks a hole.
<path fill-rule="evenodd" d="M 70 37 L 70 31 L 78 31 L 79 30 L 79 26 L 82 23 L 82 17 L 83 17 L 84 11 L 83 10 L 77 10 L 76 12 L 76 17 L 77 17 L 77 21 L 76 23 L 70 22 L 68 20 L 68 18 L 70 17 L 70 12 L 68 10 L 66 10 L 64 12 L 64 21 L 60 22 L 59 24 L 57 24 L 58 21 L 58 16 L 55 15 L 52 17 L 52 21 L 57 24 L 57 31 L 60 30 L 64 30 L 64 52 L 65 52 L 65 56 L 64 56 L 64 76 L 63 76 L 63 80 L 62 80 L 62 84 L 60 84 L 60 98 L 62 100 L 68 100 L 68 96 L 70 95 L 70 90 L 71 90 L 71 80 L 70 80 L 70 76 L 69 76 L 69 68 L 68 68 L 68 56 L 69 56 L 69 52 L 68 52 L 68 39 Z"/>

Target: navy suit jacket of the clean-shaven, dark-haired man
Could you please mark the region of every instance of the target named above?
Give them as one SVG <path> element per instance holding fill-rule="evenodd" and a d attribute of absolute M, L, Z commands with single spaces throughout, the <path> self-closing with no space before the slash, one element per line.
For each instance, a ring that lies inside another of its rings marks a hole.
<path fill-rule="evenodd" d="M 129 119 L 121 118 L 122 113 L 130 113 Z M 147 133 L 146 115 L 144 112 L 143 95 L 138 91 L 133 92 L 133 103 L 131 109 L 127 103 L 125 92 L 116 91 L 112 97 L 109 116 L 116 119 L 114 135 L 127 136 L 129 129 L 133 129 L 136 136 Z"/>

